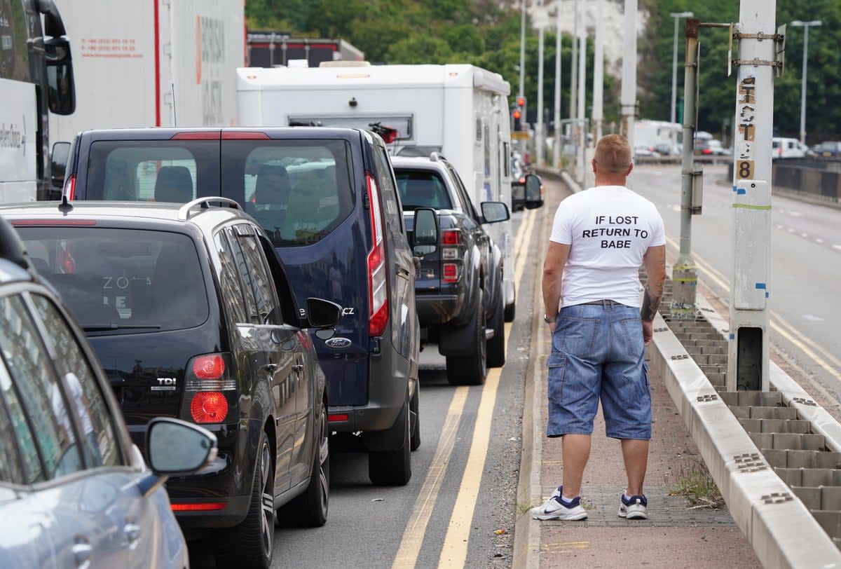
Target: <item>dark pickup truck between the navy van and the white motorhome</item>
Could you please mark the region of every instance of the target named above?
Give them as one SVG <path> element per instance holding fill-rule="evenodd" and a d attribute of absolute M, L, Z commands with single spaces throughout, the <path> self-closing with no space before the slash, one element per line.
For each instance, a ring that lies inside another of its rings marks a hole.
<path fill-rule="evenodd" d="M 486 228 L 510 218 L 502 202 L 473 207 L 456 169 L 442 155 L 392 158 L 410 239 L 418 208 L 436 211 L 440 241 L 415 246 L 421 271 L 415 304 L 421 330 L 447 358 L 452 385 L 484 383 L 488 367 L 505 364 L 505 297 L 500 247 Z"/>

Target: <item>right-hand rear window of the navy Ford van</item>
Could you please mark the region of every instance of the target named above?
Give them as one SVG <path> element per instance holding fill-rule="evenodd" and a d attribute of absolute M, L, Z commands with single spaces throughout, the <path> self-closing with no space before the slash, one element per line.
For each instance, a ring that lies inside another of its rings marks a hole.
<path fill-rule="evenodd" d="M 346 140 L 222 140 L 221 156 L 222 195 L 276 247 L 317 243 L 353 211 Z"/>

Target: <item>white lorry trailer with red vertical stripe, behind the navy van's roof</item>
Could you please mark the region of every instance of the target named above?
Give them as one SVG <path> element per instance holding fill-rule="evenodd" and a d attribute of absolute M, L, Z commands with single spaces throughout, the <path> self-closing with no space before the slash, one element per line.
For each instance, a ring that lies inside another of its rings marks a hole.
<path fill-rule="evenodd" d="M 77 105 L 50 116 L 51 140 L 86 129 L 235 124 L 242 0 L 55 3 L 75 49 Z"/>

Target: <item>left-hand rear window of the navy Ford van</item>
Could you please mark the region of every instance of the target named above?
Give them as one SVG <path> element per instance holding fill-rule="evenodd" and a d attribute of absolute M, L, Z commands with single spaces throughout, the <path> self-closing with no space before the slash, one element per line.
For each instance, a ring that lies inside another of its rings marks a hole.
<path fill-rule="evenodd" d="M 218 140 L 100 140 L 90 153 L 85 199 L 186 203 L 219 195 Z"/>

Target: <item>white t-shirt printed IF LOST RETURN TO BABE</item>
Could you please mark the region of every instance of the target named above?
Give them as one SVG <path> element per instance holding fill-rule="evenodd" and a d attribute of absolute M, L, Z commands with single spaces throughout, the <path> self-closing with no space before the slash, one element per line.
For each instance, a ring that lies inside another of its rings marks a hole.
<path fill-rule="evenodd" d="M 622 186 L 590 187 L 558 206 L 549 240 L 571 245 L 561 306 L 608 299 L 639 307 L 639 267 L 648 247 L 665 245 L 653 203 Z"/>

